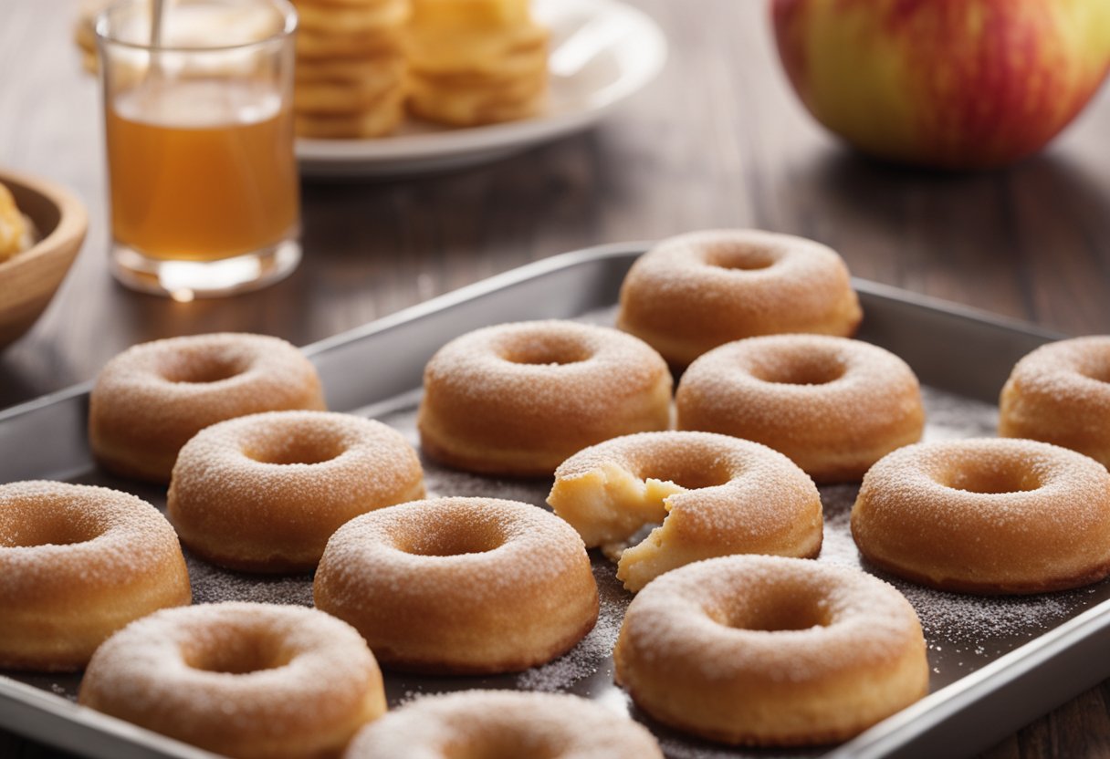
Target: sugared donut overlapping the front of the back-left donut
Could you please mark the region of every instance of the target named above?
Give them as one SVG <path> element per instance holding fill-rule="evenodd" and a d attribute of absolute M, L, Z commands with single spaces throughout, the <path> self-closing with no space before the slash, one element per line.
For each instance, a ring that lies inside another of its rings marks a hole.
<path fill-rule="evenodd" d="M 381 422 L 269 412 L 206 427 L 181 449 L 167 513 L 192 551 L 246 571 L 303 571 L 360 514 L 424 497 L 420 458 Z"/>

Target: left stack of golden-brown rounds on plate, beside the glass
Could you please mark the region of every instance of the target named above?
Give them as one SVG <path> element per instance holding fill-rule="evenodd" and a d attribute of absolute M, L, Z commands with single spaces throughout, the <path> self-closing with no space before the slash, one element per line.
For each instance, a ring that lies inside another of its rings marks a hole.
<path fill-rule="evenodd" d="M 296 0 L 299 136 L 389 134 L 404 117 L 408 0 Z"/>

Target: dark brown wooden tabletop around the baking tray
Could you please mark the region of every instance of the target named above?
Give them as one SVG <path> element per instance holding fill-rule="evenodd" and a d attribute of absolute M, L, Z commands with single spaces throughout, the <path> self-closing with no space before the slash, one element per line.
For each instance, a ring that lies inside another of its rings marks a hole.
<path fill-rule="evenodd" d="M 709 226 L 803 234 L 859 276 L 1110 332 L 1110 88 L 1012 169 L 891 169 L 808 118 L 754 0 L 635 0 L 670 61 L 596 130 L 442 176 L 306 183 L 304 262 L 270 290 L 186 304 L 134 294 L 105 269 L 100 102 L 70 41 L 73 4 L 0 2 L 0 165 L 70 186 L 92 220 L 50 308 L 0 354 L 0 407 L 89 380 L 137 342 L 225 330 L 305 344 L 536 259 Z M 983 756 L 1110 756 L 1108 699 L 1103 684 Z M 0 732 L 0 757 L 57 756 Z"/>

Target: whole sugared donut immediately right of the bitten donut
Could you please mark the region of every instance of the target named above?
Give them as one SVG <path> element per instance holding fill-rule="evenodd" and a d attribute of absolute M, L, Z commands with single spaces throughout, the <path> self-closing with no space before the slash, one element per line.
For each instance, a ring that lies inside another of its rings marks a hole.
<path fill-rule="evenodd" d="M 944 590 L 1061 590 L 1110 574 L 1110 473 L 1048 443 L 896 451 L 867 473 L 851 534 L 871 564 Z"/>

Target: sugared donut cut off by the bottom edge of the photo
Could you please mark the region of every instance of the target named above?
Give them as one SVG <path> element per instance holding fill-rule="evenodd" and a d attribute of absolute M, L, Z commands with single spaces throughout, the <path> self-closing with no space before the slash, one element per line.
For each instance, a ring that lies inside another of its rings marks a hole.
<path fill-rule="evenodd" d="M 355 736 L 343 759 L 663 759 L 642 725 L 565 694 L 427 696 Z"/>

